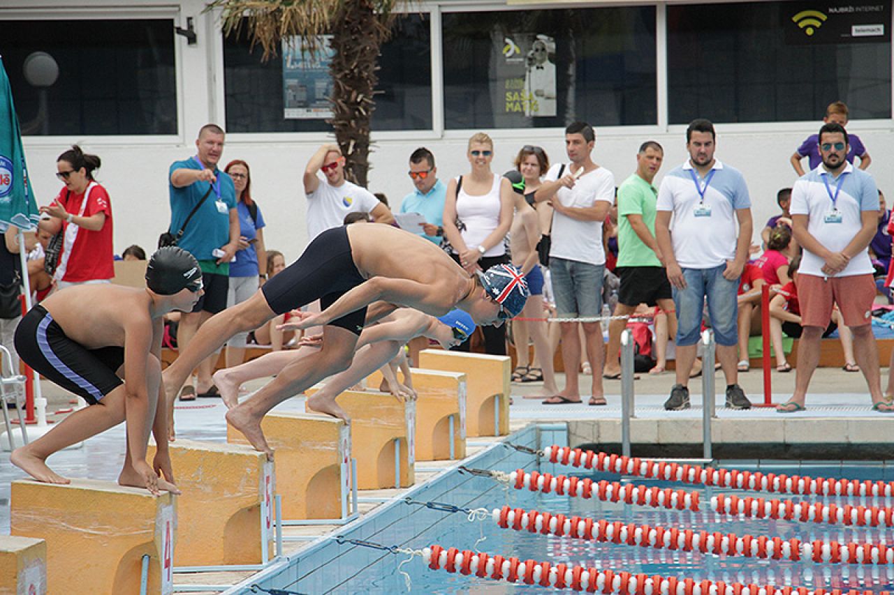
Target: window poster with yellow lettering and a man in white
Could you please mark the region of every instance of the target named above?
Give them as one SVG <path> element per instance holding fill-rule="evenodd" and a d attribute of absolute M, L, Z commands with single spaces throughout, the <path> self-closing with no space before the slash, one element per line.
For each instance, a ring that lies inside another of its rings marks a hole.
<path fill-rule="evenodd" d="M 493 30 L 493 113 L 512 125 L 556 116 L 556 42 L 544 33 Z M 500 125 L 498 122 L 495 122 Z"/>

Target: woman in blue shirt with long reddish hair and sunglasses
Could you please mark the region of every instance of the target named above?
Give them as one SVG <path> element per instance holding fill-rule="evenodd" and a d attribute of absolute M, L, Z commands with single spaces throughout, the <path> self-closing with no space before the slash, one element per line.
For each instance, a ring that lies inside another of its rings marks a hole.
<path fill-rule="evenodd" d="M 239 217 L 239 247 L 230 262 L 230 288 L 226 306 L 232 307 L 255 295 L 260 280 L 266 281 L 267 252 L 264 247 L 264 216 L 251 197 L 251 170 L 249 164 L 234 159 L 226 164 L 224 172 L 230 174 L 236 189 L 236 214 Z M 264 271 L 261 274 L 261 271 Z M 246 341 L 249 333 L 240 332 L 227 342 L 226 365 L 240 365 L 245 360 Z"/>

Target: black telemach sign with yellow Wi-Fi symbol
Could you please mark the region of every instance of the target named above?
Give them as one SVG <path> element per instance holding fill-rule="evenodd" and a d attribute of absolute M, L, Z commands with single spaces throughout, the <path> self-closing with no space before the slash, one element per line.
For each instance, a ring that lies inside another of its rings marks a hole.
<path fill-rule="evenodd" d="M 782 4 L 782 28 L 792 46 L 890 43 L 890 0 Z"/>

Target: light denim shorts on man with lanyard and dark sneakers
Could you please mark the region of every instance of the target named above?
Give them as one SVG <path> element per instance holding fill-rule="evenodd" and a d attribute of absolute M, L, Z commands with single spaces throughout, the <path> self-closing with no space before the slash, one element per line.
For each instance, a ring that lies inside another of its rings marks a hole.
<path fill-rule="evenodd" d="M 723 278 L 726 264 L 712 269 L 683 269 L 686 289 L 673 289 L 677 309 L 677 345 L 687 347 L 698 342 L 702 329 L 704 300 L 717 345 L 730 347 L 738 342 L 738 279 Z"/>

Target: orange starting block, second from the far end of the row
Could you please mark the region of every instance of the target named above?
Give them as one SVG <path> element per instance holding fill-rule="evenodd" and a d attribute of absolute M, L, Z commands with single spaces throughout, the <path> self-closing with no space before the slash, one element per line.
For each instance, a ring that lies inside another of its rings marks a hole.
<path fill-rule="evenodd" d="M 416 401 L 416 460 L 445 461 L 466 457 L 466 374 L 413 368 Z M 403 379 L 403 373 L 398 373 Z M 372 373 L 367 386 L 378 386 Z"/>

